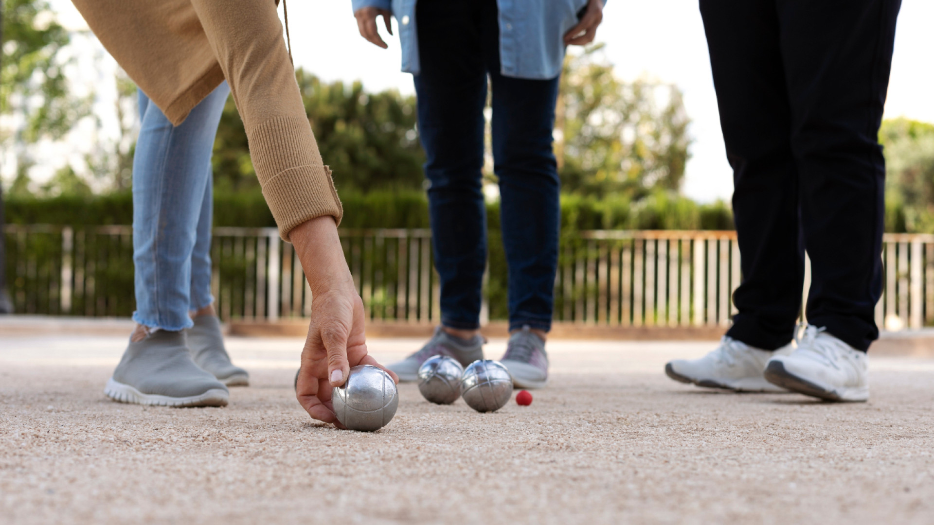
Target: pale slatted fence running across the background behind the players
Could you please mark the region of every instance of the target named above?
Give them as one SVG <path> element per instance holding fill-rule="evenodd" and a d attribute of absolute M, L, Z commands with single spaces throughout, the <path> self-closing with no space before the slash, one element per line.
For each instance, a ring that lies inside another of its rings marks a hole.
<path fill-rule="evenodd" d="M 5 227 L 7 282 L 17 312 L 129 316 L 132 228 Z M 440 317 L 431 232 L 342 230 L 347 263 L 371 319 Z M 212 289 L 222 319 L 307 317 L 311 291 L 275 228 L 216 228 Z M 876 320 L 890 330 L 934 324 L 934 235 L 885 234 Z M 500 272 L 502 270 L 490 270 Z M 504 273 L 504 272 L 503 272 Z M 728 326 L 741 280 L 735 232 L 587 231 L 562 235 L 555 319 L 621 326 Z M 505 276 L 485 282 L 505 282 Z M 805 296 L 810 264 L 805 268 Z M 486 296 L 487 294 L 485 294 Z M 504 301 L 502 294 L 499 300 Z M 483 316 L 503 312 L 484 301 Z"/>

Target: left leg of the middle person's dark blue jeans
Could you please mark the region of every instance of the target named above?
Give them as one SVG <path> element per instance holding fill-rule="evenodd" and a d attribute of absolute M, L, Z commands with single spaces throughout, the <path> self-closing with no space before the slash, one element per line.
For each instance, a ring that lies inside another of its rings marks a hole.
<path fill-rule="evenodd" d="M 441 321 L 448 328 L 480 327 L 487 260 L 487 217 L 481 191 L 487 72 L 478 10 L 469 2 L 417 5 L 421 73 L 415 77 L 418 131 L 441 279 Z"/>

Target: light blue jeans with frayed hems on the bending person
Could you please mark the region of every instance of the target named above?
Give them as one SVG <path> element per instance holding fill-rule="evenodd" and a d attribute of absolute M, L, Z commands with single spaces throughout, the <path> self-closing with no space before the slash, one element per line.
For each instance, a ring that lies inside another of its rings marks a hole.
<path fill-rule="evenodd" d="M 133 159 L 134 321 L 178 331 L 211 295 L 211 152 L 227 83 L 173 126 L 139 92 L 139 139 Z"/>

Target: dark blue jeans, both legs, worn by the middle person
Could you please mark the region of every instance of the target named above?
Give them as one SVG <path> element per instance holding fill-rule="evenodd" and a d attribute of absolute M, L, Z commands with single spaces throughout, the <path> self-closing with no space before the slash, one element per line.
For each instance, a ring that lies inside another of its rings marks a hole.
<path fill-rule="evenodd" d="M 467 330 L 480 326 L 487 261 L 483 110 L 489 78 L 493 171 L 500 179 L 509 266 L 509 326 L 547 331 L 558 267 L 559 179 L 551 149 L 558 78 L 500 74 L 495 0 L 421 0 L 416 13 L 418 131 L 431 183 L 441 322 Z"/>

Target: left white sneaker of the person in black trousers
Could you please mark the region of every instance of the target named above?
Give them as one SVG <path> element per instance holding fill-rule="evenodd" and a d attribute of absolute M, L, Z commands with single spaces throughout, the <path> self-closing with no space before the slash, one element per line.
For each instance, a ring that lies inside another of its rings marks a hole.
<path fill-rule="evenodd" d="M 720 346 L 701 359 L 679 359 L 665 365 L 665 374 L 682 383 L 694 383 L 710 389 L 738 392 L 785 392 L 762 376 L 765 363 L 772 356 L 787 355 L 791 343 L 777 350 L 750 347 L 742 341 L 724 335 Z"/>

